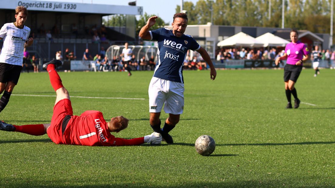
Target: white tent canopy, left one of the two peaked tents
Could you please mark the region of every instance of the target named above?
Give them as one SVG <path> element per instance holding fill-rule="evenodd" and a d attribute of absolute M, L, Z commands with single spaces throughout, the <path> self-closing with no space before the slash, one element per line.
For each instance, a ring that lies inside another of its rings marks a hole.
<path fill-rule="evenodd" d="M 217 46 L 263 47 L 263 45 L 264 43 L 244 32 L 239 32 L 217 43 Z"/>

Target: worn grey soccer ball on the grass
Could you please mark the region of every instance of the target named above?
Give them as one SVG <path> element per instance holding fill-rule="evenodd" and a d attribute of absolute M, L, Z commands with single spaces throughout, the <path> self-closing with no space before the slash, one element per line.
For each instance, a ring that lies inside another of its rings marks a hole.
<path fill-rule="evenodd" d="M 198 154 L 208 156 L 215 150 L 215 141 L 208 135 L 199 136 L 195 141 L 195 150 Z"/>

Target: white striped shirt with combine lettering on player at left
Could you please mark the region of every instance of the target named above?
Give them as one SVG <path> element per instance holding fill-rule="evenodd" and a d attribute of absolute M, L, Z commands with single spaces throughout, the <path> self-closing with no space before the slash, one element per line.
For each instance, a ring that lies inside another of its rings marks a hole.
<path fill-rule="evenodd" d="M 4 24 L 0 30 L 0 38 L 3 38 L 0 63 L 22 66 L 24 43 L 29 34 L 27 26 L 20 29 L 13 22 Z"/>

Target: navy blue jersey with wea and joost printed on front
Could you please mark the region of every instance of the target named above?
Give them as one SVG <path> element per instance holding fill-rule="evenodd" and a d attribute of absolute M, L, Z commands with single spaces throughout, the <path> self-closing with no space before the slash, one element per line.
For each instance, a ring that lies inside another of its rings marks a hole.
<path fill-rule="evenodd" d="M 164 80 L 184 83 L 183 69 L 187 51 L 197 51 L 200 45 L 191 35 L 177 37 L 168 28 L 149 31 L 151 40 L 158 41 L 158 62 L 153 76 Z"/>

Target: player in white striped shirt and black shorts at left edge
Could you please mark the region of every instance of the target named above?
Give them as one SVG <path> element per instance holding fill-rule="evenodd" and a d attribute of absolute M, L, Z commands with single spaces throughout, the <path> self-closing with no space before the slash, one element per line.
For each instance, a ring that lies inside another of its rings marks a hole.
<path fill-rule="evenodd" d="M 0 112 L 5 108 L 14 86 L 20 77 L 23 49 L 32 44 L 33 38 L 28 38 L 30 28 L 24 25 L 28 11 L 23 6 L 15 8 L 16 21 L 4 24 L 0 29 L 0 39 L 3 46 L 0 52 Z"/>

